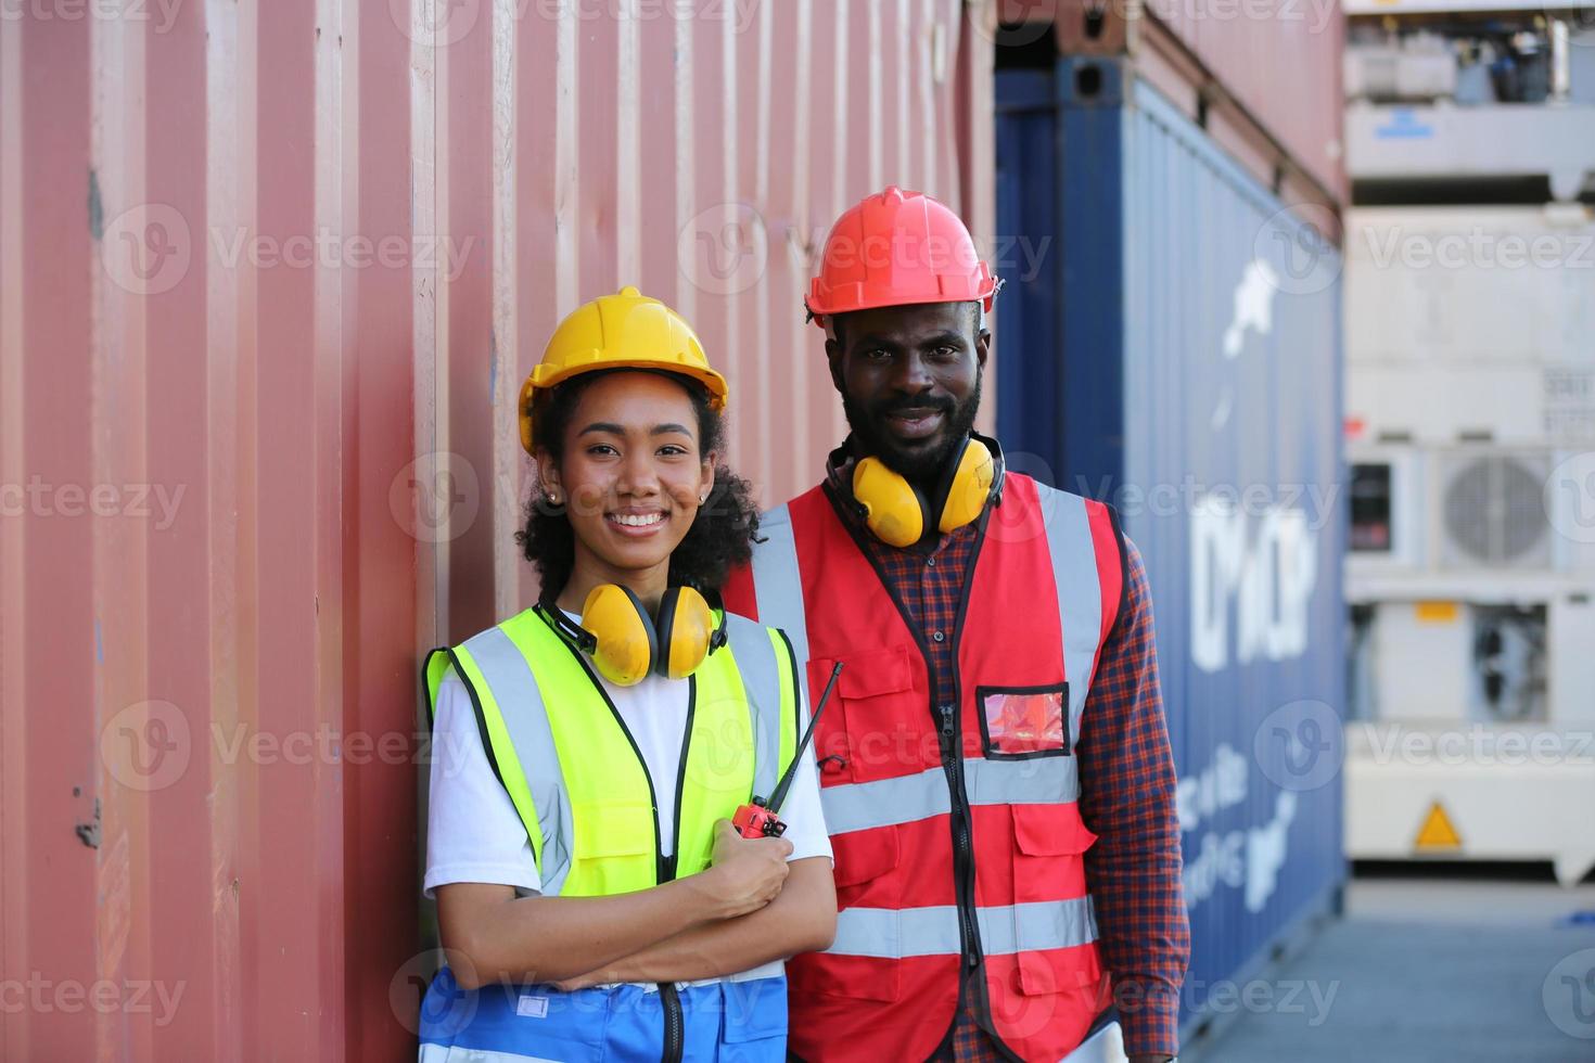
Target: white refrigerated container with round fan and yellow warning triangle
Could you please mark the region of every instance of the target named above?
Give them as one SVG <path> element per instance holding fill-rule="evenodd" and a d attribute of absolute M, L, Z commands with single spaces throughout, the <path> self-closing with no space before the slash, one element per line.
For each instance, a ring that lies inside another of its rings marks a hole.
<path fill-rule="evenodd" d="M 1585 207 L 1348 212 L 1351 857 L 1595 867 L 1592 335 Z"/>

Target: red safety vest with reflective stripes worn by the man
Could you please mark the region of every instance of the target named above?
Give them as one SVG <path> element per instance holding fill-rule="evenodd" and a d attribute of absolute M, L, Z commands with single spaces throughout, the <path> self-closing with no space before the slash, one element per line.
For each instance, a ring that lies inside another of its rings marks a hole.
<path fill-rule="evenodd" d="M 807 652 L 810 704 L 845 665 L 815 735 L 836 942 L 788 964 L 791 1049 L 927 1058 L 968 993 L 1013 1053 L 1061 1058 L 1107 1004 L 1073 747 L 1124 583 L 1113 512 L 1010 473 L 962 617 L 925 633 L 957 650 L 952 688 L 933 690 L 868 532 L 836 505 L 815 488 L 767 515 L 726 591 Z"/>

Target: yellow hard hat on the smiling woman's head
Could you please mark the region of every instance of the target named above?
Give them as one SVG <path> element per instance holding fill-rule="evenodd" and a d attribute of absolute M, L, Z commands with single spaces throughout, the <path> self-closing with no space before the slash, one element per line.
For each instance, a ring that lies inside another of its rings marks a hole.
<path fill-rule="evenodd" d="M 597 370 L 664 370 L 681 373 L 708 389 L 711 410 L 726 408 L 726 378 L 710 368 L 703 344 L 679 314 L 627 285 L 600 295 L 560 322 L 542 349 L 542 362 L 520 387 L 520 445 L 533 454 L 531 400 L 538 390 L 558 387 L 573 376 Z"/>

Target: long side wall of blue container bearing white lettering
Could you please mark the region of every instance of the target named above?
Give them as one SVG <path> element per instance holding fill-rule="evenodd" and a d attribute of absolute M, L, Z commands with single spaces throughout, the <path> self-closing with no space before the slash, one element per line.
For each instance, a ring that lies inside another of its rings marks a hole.
<path fill-rule="evenodd" d="M 1126 531 L 1174 706 L 1185 1002 L 1209 1015 L 1345 880 L 1341 265 L 1144 86 L 1126 139 Z"/>

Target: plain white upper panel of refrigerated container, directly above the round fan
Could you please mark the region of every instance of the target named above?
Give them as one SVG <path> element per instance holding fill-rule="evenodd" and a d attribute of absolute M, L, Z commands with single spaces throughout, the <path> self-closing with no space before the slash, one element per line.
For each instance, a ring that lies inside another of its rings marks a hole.
<path fill-rule="evenodd" d="M 1345 258 L 1361 440 L 1595 443 L 1590 210 L 1357 207 Z"/>

